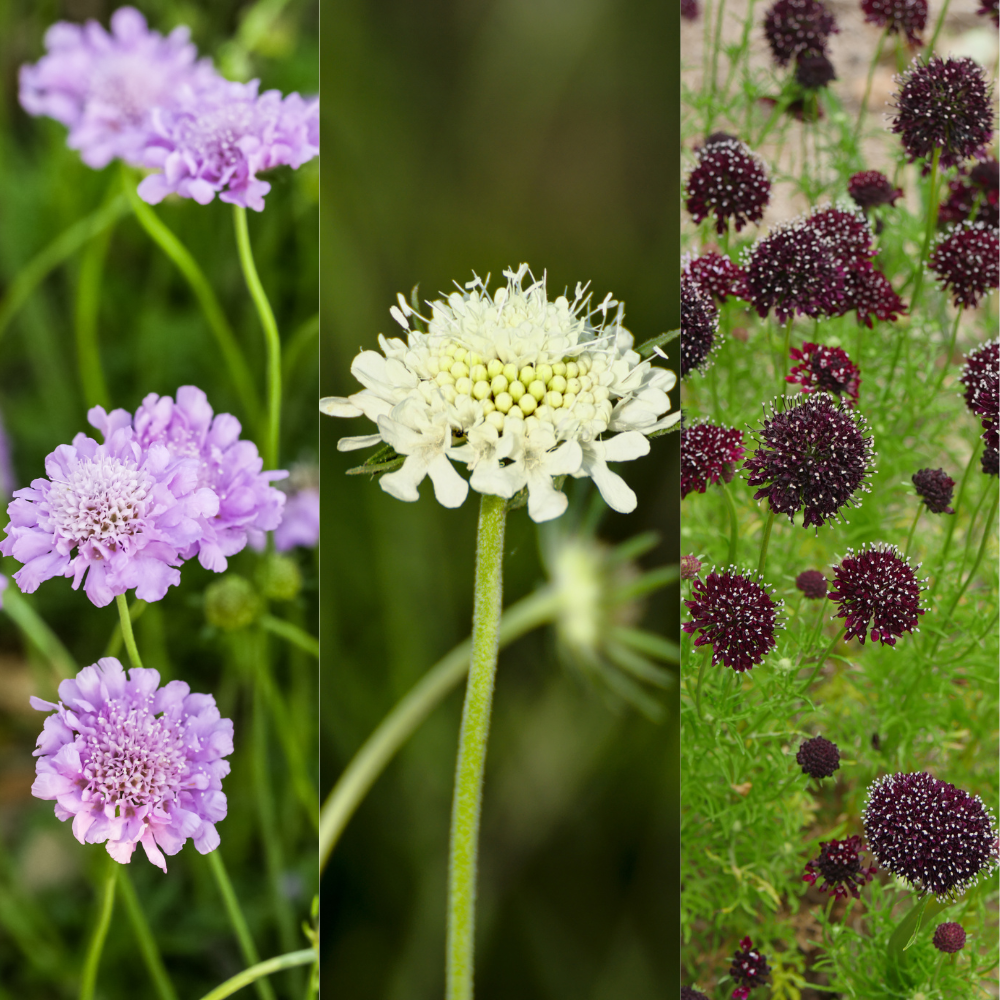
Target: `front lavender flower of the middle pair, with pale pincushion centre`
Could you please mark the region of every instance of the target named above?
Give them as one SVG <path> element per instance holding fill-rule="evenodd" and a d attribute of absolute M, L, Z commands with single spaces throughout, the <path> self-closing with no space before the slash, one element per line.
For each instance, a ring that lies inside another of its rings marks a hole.
<path fill-rule="evenodd" d="M 133 588 L 140 600 L 158 601 L 180 583 L 174 567 L 219 510 L 196 459 L 162 444 L 144 449 L 126 427 L 104 444 L 77 434 L 46 458 L 45 471 L 47 479 L 14 494 L 0 542 L 0 552 L 24 564 L 14 579 L 26 594 L 66 576 L 98 607 Z"/>

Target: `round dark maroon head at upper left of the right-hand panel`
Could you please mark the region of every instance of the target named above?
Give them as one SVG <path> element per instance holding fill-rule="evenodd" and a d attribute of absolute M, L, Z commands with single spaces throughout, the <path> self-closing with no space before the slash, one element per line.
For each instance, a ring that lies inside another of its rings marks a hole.
<path fill-rule="evenodd" d="M 698 165 L 685 184 L 687 210 L 695 222 L 715 216 L 721 236 L 732 219 L 739 232 L 760 222 L 771 195 L 764 161 L 746 143 L 729 137 L 706 142 L 697 150 Z"/>

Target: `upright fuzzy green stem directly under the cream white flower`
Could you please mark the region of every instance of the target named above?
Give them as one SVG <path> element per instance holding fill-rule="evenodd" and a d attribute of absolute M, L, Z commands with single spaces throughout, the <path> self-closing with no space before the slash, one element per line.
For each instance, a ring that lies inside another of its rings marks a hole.
<path fill-rule="evenodd" d="M 484 494 L 476 536 L 472 662 L 458 737 L 448 850 L 446 1000 L 472 1000 L 479 819 L 503 605 L 506 518 L 507 501 Z"/>

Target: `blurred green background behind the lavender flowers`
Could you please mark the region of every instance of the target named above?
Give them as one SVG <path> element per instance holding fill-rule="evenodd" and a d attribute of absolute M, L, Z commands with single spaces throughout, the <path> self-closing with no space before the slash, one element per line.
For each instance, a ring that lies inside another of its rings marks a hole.
<path fill-rule="evenodd" d="M 21 110 L 18 67 L 42 55 L 44 32 L 53 21 L 94 17 L 106 25 L 117 6 L 0 0 L 0 298 L 26 262 L 94 211 L 109 187 L 119 183 L 116 164 L 100 172 L 87 168 L 66 148 L 63 126 Z M 259 76 L 263 89 L 304 94 L 318 89 L 318 11 L 310 0 L 257 5 L 150 0 L 136 6 L 157 30 L 189 25 L 201 53 L 213 56 L 227 75 Z M 251 8 L 257 16 L 267 15 L 262 35 L 247 29 Z M 289 361 L 282 433 L 286 468 L 314 465 L 317 458 L 317 350 L 309 320 L 315 317 L 318 297 L 318 176 L 315 161 L 297 172 L 273 172 L 265 211 L 249 213 L 258 270 Z M 156 212 L 204 269 L 263 397 L 263 337 L 240 273 L 231 207 L 171 199 Z M 45 456 L 61 442 L 80 431 L 97 436 L 86 422 L 77 372 L 73 324 L 79 264 L 76 254 L 57 268 L 0 336 L 0 413 L 19 487 L 44 474 Z M 254 436 L 190 289 L 131 216 L 111 234 L 98 337 L 114 406 L 134 410 L 149 392 L 173 394 L 178 386 L 194 383 L 205 389 L 217 413 L 236 414 L 244 436 Z M 0 509 L 5 507 L 6 502 Z M 303 573 L 302 593 L 293 602 L 274 605 L 272 613 L 315 631 L 316 554 L 297 549 L 292 555 Z M 258 562 L 255 553 L 245 550 L 230 561 L 230 568 L 252 578 Z M 5 575 L 17 568 L 13 560 L 3 560 Z M 291 789 L 272 728 L 265 733 L 265 773 L 274 800 L 277 868 L 273 856 L 265 857 L 260 783 L 249 739 L 252 657 L 247 654 L 252 649 L 269 657 L 313 781 L 316 661 L 289 653 L 276 639 L 266 642 L 256 630 L 222 635 L 209 628 L 202 594 L 216 579 L 197 561 L 187 563 L 181 585 L 150 605 L 136 623 L 137 641 L 146 666 L 160 670 L 164 680 L 182 678 L 195 691 L 214 692 L 222 714 L 234 719 L 236 751 L 224 783 L 229 815 L 219 825 L 221 850 L 257 945 L 267 956 L 283 950 L 289 940 L 293 947 L 305 946 L 299 923 L 308 916 L 316 891 L 316 834 Z M 94 608 L 63 579 L 43 584 L 25 600 L 56 631 L 78 665 L 103 655 L 117 620 L 113 605 Z M 32 693 L 54 694 L 50 666 L 0 614 L 0 997 L 44 1000 L 76 995 L 75 979 L 96 912 L 91 877 L 103 871 L 106 855 L 103 846 L 79 845 L 69 824 L 53 816 L 53 804 L 30 796 L 31 751 L 43 719 L 28 706 Z M 178 993 L 197 997 L 242 968 L 243 960 L 205 860 L 188 844 L 168 863 L 164 876 L 140 851 L 128 870 Z M 301 996 L 303 985 L 302 976 L 276 981 L 279 996 Z M 151 995 L 119 902 L 98 996 Z"/>

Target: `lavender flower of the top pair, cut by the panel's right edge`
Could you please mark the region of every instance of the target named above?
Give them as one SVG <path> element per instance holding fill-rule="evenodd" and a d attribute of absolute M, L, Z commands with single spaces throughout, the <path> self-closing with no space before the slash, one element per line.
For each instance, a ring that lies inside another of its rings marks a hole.
<path fill-rule="evenodd" d="M 220 79 L 177 107 L 157 109 L 143 163 L 161 172 L 142 181 L 139 195 L 151 205 L 171 193 L 207 205 L 218 194 L 262 212 L 271 185 L 257 174 L 297 169 L 319 152 L 319 102 L 277 90 L 258 95 L 257 87 L 257 80 Z"/>

